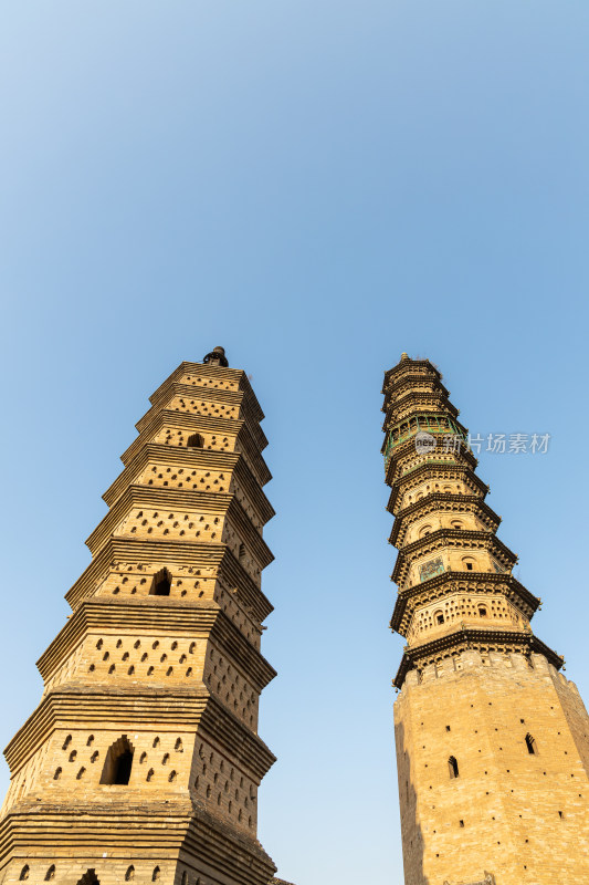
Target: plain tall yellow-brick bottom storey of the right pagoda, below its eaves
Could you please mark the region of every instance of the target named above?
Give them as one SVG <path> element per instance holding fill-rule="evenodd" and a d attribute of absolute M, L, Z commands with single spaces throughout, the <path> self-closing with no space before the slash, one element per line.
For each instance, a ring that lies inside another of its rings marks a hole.
<path fill-rule="evenodd" d="M 444 667 L 421 683 L 411 671 L 395 705 L 406 883 L 477 882 L 485 871 L 499 885 L 576 882 L 589 856 L 576 687 L 541 655 L 530 667 L 471 650 Z"/>

